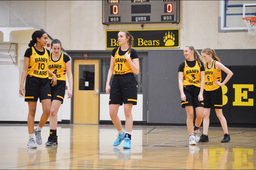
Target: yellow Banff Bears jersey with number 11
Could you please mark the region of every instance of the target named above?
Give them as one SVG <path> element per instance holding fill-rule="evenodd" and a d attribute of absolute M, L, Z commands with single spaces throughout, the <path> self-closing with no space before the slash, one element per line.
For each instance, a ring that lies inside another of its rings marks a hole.
<path fill-rule="evenodd" d="M 114 56 L 115 66 L 114 66 L 113 74 L 133 73 L 133 70 L 131 69 L 130 64 L 125 59 L 125 55 L 119 56 L 118 51 L 120 48 L 121 47 L 117 49 L 117 52 L 115 53 L 115 56 Z"/>

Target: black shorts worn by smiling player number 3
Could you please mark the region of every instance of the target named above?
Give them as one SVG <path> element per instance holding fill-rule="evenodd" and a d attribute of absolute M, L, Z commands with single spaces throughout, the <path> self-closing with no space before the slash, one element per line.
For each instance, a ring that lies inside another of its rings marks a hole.
<path fill-rule="evenodd" d="M 185 108 L 185 106 L 194 106 L 203 107 L 204 102 L 198 100 L 198 95 L 200 93 L 200 87 L 196 87 L 193 85 L 183 86 L 184 94 L 186 95 L 186 101 L 181 101 L 181 107 Z"/>

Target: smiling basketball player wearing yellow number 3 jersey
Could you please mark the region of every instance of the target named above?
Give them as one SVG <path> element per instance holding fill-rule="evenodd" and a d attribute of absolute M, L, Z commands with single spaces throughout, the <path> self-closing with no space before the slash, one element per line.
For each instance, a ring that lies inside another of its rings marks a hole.
<path fill-rule="evenodd" d="M 179 65 L 179 90 L 181 92 L 181 106 L 187 112 L 187 129 L 189 131 L 189 145 L 196 145 L 199 141 L 199 127 L 203 120 L 203 88 L 205 84 L 205 68 L 203 58 L 193 46 L 186 46 L 183 50 L 187 59 Z M 194 109 L 197 118 L 193 128 Z"/>

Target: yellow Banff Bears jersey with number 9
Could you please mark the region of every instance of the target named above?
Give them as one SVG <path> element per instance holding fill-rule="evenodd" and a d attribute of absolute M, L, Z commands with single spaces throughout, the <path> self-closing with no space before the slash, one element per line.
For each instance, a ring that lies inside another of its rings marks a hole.
<path fill-rule="evenodd" d="M 213 91 L 218 89 L 219 85 L 214 84 L 215 80 L 218 80 L 221 82 L 221 70 L 216 70 L 215 69 L 215 62 L 216 60 L 213 61 L 213 65 L 211 66 L 210 69 L 208 69 L 208 63 L 205 64 L 205 90 L 206 91 Z"/>

